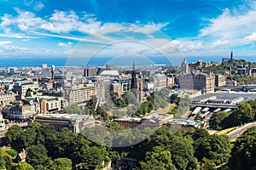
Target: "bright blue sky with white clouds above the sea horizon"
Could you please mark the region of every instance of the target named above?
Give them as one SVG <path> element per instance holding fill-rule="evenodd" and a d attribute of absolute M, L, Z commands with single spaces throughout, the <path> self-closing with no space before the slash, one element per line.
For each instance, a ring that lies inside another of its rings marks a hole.
<path fill-rule="evenodd" d="M 255 16 L 247 0 L 0 0 L 0 55 L 253 56 Z"/>

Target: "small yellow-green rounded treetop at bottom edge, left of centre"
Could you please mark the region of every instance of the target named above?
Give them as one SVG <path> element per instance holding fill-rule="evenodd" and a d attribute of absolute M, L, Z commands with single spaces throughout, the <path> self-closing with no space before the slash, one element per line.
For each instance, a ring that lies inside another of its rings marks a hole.
<path fill-rule="evenodd" d="M 50 170 L 71 170 L 72 161 L 67 158 L 57 158 L 55 159 L 54 163 L 49 169 Z"/>

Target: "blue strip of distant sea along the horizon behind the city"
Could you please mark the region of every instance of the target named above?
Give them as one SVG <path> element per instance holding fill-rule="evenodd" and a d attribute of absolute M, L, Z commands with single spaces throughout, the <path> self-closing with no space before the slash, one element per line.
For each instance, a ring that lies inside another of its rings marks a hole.
<path fill-rule="evenodd" d="M 223 57 L 186 57 L 189 63 L 203 60 L 209 62 L 221 62 Z M 245 59 L 247 61 L 256 62 L 256 57 L 235 57 L 235 59 Z M 55 65 L 55 66 L 92 66 L 92 65 L 132 65 L 135 61 L 136 65 L 180 65 L 183 58 L 173 57 L 167 59 L 166 57 L 126 57 L 126 58 L 113 58 L 113 57 L 94 57 L 94 58 L 67 58 L 67 57 L 1 57 L 0 67 L 32 67 L 42 66 L 42 64 Z"/>

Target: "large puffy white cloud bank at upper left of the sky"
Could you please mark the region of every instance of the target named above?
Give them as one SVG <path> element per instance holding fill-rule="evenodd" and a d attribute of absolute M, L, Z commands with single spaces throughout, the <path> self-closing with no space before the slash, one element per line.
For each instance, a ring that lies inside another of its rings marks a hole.
<path fill-rule="evenodd" d="M 96 21 L 91 15 L 84 14 L 84 17 L 79 18 L 75 12 L 63 12 L 55 10 L 49 18 L 37 17 L 32 12 L 21 11 L 15 8 L 17 16 L 4 14 L 1 17 L 2 26 L 5 30 L 9 27 L 18 27 L 20 31 L 51 31 L 54 33 L 67 33 L 71 31 L 80 31 L 83 33 L 92 33 L 98 30 L 101 22 Z"/>

